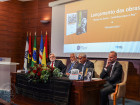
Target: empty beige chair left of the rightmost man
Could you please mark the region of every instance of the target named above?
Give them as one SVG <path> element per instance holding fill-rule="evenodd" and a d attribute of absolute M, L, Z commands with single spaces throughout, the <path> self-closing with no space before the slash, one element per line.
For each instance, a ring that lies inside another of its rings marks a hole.
<path fill-rule="evenodd" d="M 104 67 L 104 61 L 103 60 L 90 60 L 94 63 L 94 70 L 95 70 L 95 78 L 100 78 L 100 74 Z"/>

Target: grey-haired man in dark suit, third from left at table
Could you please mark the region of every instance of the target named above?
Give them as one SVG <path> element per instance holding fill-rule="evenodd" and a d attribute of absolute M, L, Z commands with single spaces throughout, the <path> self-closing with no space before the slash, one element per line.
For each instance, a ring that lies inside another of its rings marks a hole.
<path fill-rule="evenodd" d="M 87 59 L 85 53 L 80 53 L 78 55 L 78 59 L 79 59 L 79 64 L 77 66 L 77 69 L 79 69 L 79 72 L 80 74 L 82 74 L 82 76 L 85 75 L 86 68 L 94 68 L 94 64 Z M 94 71 L 93 71 L 93 77 L 94 77 Z"/>

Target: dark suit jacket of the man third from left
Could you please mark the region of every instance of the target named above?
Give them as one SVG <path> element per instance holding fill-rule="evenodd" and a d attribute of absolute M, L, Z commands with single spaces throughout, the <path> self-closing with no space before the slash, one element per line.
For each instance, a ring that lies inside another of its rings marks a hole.
<path fill-rule="evenodd" d="M 79 69 L 79 72 L 82 72 L 82 67 L 83 67 L 83 64 L 81 64 L 81 63 L 79 63 L 77 65 L 77 69 Z M 84 66 L 83 75 L 85 75 L 86 68 L 94 69 L 94 64 L 91 61 L 87 60 L 85 66 Z M 93 77 L 94 77 L 94 71 L 93 71 Z"/>

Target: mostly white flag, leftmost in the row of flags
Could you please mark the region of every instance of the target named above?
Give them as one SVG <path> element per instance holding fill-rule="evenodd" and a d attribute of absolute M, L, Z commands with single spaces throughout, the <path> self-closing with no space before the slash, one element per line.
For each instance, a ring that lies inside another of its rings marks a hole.
<path fill-rule="evenodd" d="M 26 45 L 25 45 L 25 55 L 24 55 L 24 70 L 25 73 L 27 73 L 27 63 L 28 63 L 28 50 L 29 50 L 29 43 L 28 43 L 28 34 L 27 34 L 27 39 L 26 39 Z"/>

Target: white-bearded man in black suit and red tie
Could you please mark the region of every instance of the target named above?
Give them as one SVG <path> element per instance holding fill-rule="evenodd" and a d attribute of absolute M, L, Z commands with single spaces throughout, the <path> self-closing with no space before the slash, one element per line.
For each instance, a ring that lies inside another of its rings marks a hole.
<path fill-rule="evenodd" d="M 51 67 L 59 68 L 62 73 L 65 73 L 66 66 L 63 64 L 63 62 L 61 60 L 56 60 L 55 54 L 50 53 L 49 59 L 50 59 L 50 62 L 48 62 L 47 65 L 49 65 Z"/>

